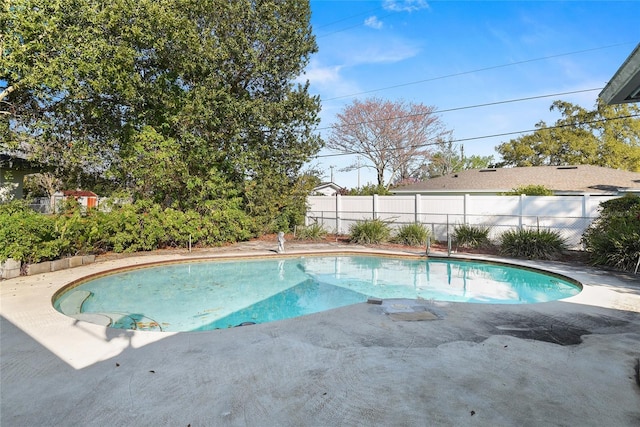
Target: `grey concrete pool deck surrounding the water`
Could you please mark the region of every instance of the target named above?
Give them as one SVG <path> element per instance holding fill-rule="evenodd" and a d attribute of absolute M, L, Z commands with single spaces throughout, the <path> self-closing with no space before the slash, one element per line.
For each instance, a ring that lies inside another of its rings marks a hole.
<path fill-rule="evenodd" d="M 51 307 L 60 287 L 89 274 L 275 256 L 270 246 L 98 260 L 1 281 L 0 425 L 640 425 L 637 276 L 522 262 L 584 290 L 530 305 L 384 300 L 198 333 L 111 329 Z"/>

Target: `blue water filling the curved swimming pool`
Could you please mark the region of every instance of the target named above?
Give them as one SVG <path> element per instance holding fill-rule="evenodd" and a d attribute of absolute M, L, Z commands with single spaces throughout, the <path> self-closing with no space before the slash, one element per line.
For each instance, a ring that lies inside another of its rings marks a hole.
<path fill-rule="evenodd" d="M 288 319 L 370 297 L 527 304 L 579 292 L 559 277 L 501 264 L 331 255 L 129 270 L 70 287 L 54 306 L 72 317 L 107 319 L 115 328 L 201 331 Z"/>

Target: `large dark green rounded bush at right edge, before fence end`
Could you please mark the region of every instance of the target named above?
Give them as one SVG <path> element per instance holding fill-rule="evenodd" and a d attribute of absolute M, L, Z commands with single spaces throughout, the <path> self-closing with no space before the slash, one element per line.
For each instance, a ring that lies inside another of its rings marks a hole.
<path fill-rule="evenodd" d="M 640 258 L 640 197 L 627 195 L 600 204 L 600 216 L 582 235 L 590 261 L 634 271 Z"/>

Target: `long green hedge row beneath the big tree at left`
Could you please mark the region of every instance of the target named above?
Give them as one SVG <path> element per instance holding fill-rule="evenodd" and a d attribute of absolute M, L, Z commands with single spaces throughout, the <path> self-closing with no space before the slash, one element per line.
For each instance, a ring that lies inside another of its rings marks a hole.
<path fill-rule="evenodd" d="M 64 256 L 104 252 L 136 252 L 170 247 L 217 246 L 254 235 L 251 218 L 241 210 L 215 210 L 206 215 L 139 201 L 109 212 L 69 206 L 63 213 L 43 215 L 26 204 L 0 205 L 0 261 L 26 263 Z"/>

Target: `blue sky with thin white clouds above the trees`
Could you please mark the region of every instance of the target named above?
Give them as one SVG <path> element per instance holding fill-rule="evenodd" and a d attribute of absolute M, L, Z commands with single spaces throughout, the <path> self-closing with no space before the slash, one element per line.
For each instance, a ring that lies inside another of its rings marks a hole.
<path fill-rule="evenodd" d="M 557 99 L 592 108 L 640 42 L 638 1 L 311 0 L 311 11 L 319 52 L 303 78 L 321 97 L 321 135 L 356 98 L 405 100 L 435 106 L 465 155 L 496 161 L 495 147 L 521 134 L 472 138 L 552 124 Z M 314 161 L 324 180 L 334 166 L 337 184 L 356 187 L 358 173 L 341 171 L 355 157 L 333 154 Z M 361 185 L 375 182 L 360 169 Z"/>

